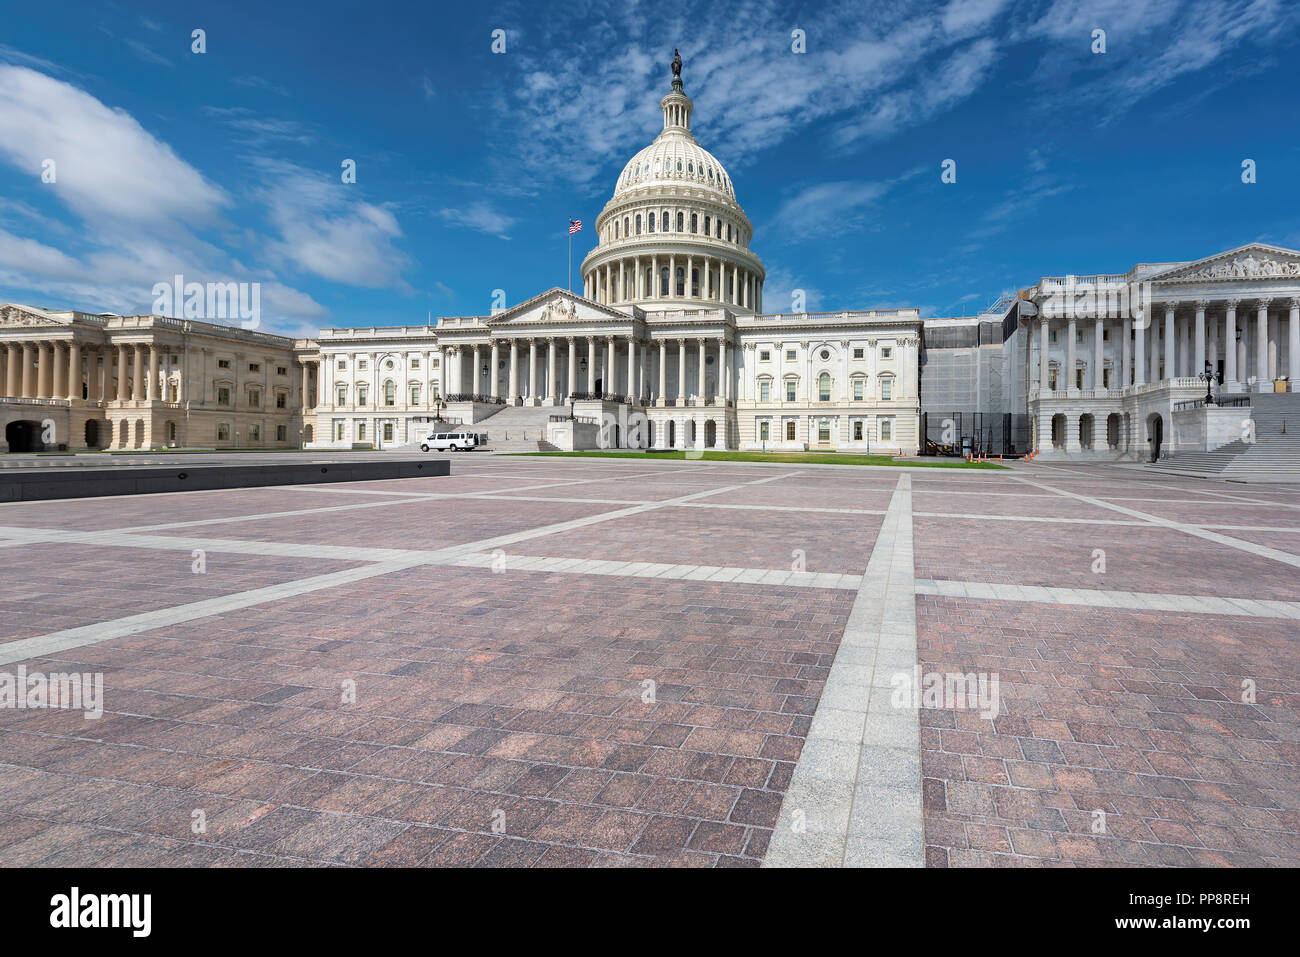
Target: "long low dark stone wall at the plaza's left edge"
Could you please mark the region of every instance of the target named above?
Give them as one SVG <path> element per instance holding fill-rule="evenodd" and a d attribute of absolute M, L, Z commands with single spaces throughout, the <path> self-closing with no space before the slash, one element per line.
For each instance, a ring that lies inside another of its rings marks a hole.
<path fill-rule="evenodd" d="M 159 492 L 252 489 L 265 485 L 420 478 L 451 475 L 446 459 L 381 459 L 217 465 L 103 465 L 90 468 L 14 469 L 0 475 L 0 502 L 31 502 L 98 495 L 143 495 Z"/>

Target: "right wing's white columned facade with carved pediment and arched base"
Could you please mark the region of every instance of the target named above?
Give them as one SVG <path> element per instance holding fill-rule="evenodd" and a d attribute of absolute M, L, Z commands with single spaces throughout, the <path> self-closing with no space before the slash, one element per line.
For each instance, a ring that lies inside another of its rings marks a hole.
<path fill-rule="evenodd" d="M 1043 455 L 1144 459 L 1179 449 L 1173 412 L 1300 382 L 1300 255 L 1252 243 L 1124 274 L 1049 277 L 1022 294 L 1027 390 Z M 1245 412 L 1249 417 L 1249 412 Z M 1104 424 L 1104 426 L 1102 426 Z"/>

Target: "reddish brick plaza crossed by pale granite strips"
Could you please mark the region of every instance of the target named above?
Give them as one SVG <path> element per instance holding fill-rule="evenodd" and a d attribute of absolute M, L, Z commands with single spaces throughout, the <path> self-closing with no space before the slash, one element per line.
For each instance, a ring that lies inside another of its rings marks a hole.
<path fill-rule="evenodd" d="M 464 455 L 0 562 L 0 672 L 104 680 L 0 709 L 0 865 L 1300 863 L 1297 486 Z"/>

